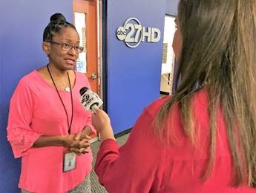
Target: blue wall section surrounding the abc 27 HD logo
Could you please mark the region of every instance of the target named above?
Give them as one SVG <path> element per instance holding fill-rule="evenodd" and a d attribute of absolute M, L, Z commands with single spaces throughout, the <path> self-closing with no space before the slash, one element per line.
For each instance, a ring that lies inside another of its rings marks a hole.
<path fill-rule="evenodd" d="M 160 96 L 163 26 L 166 0 L 108 0 L 108 115 L 114 133 L 134 126 L 145 106 Z M 139 19 L 142 26 L 157 27 L 157 43 L 142 42 L 127 47 L 116 38 L 116 29 L 127 18 Z"/>

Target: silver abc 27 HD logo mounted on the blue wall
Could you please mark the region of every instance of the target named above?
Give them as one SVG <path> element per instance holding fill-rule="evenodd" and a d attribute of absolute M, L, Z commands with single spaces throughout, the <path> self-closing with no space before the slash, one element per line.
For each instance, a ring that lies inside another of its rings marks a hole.
<path fill-rule="evenodd" d="M 116 37 L 128 47 L 134 48 L 145 41 L 145 38 L 148 42 L 160 41 L 161 33 L 156 27 L 142 27 L 137 18 L 128 18 L 123 26 L 117 28 Z"/>

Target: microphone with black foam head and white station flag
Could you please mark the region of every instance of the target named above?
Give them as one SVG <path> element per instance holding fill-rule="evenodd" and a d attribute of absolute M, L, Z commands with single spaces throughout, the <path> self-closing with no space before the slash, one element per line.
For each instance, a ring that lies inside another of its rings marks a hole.
<path fill-rule="evenodd" d="M 86 110 L 96 113 L 96 109 L 103 104 L 103 101 L 101 98 L 99 98 L 99 95 L 88 89 L 88 87 L 82 87 L 79 92 L 81 95 L 79 101 L 82 106 L 84 106 Z"/>

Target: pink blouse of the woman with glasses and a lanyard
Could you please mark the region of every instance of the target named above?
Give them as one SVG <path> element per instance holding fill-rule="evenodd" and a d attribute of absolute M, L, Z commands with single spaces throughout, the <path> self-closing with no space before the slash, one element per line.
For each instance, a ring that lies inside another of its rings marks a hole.
<path fill-rule="evenodd" d="M 88 79 L 76 72 L 73 92 L 73 123 L 71 133 L 91 125 L 91 112 L 79 103 L 79 89 L 90 88 Z M 62 101 L 71 117 L 70 92 L 59 90 Z M 93 129 L 94 131 L 94 129 Z M 91 172 L 92 154 L 76 156 L 76 169 L 62 172 L 62 146 L 33 148 L 40 135 L 68 135 L 68 121 L 56 89 L 34 70 L 19 81 L 10 100 L 7 139 L 15 158 L 22 157 L 19 188 L 30 192 L 63 193 L 82 183 Z"/>

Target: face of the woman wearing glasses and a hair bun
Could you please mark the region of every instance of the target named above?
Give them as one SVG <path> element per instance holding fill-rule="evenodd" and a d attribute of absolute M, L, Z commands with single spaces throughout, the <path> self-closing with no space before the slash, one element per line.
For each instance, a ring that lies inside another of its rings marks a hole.
<path fill-rule="evenodd" d="M 70 43 L 73 46 L 79 46 L 79 35 L 76 30 L 74 30 L 72 27 L 65 27 L 60 33 L 54 35 L 52 43 L 49 43 L 50 63 L 52 63 L 59 70 L 73 70 L 79 53 L 74 50 L 73 47 L 69 50 L 63 50 L 61 45 L 62 43 Z"/>

